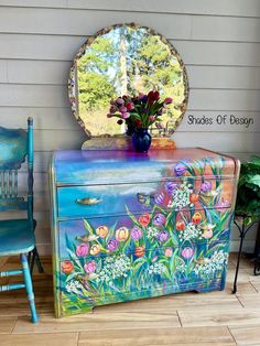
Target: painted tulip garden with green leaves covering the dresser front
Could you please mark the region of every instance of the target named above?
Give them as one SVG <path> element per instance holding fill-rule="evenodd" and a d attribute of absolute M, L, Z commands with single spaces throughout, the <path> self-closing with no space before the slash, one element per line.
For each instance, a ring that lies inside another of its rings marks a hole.
<path fill-rule="evenodd" d="M 113 300 L 224 289 L 234 183 L 223 179 L 225 163 L 210 156 L 177 162 L 154 191 L 134 194 L 140 213 L 128 198 L 120 215 L 62 221 L 62 314 Z"/>

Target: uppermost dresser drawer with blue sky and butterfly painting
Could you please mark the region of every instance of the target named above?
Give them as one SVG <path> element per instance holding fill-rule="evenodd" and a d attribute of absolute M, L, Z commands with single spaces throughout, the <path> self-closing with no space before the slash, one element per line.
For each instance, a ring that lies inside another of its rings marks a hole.
<path fill-rule="evenodd" d="M 230 206 L 234 180 L 176 179 L 154 183 L 67 186 L 57 188 L 58 217 L 75 218 L 150 212 L 154 206 L 202 209 Z"/>

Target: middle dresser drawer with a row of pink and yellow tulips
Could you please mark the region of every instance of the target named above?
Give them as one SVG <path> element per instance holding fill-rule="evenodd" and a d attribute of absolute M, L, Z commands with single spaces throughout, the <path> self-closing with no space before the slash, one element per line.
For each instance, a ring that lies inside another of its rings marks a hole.
<path fill-rule="evenodd" d="M 228 242 L 230 209 L 131 214 L 58 223 L 59 258 L 82 259 L 117 253 L 143 257 L 167 248 L 201 248 Z M 171 250 L 170 250 L 171 252 Z"/>

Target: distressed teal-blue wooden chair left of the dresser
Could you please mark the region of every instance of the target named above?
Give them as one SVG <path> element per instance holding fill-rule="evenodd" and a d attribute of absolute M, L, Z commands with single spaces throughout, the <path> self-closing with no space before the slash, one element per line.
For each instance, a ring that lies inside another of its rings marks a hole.
<path fill-rule="evenodd" d="M 19 196 L 18 170 L 28 156 L 28 198 Z M 28 253 L 34 253 L 33 220 L 33 120 L 28 119 L 28 131 L 0 127 L 0 210 L 26 210 L 28 218 L 0 220 L 0 256 L 19 255 L 22 269 L 2 271 L 0 277 L 23 274 L 24 283 L 0 285 L 0 291 L 26 289 L 32 322 L 39 321 Z M 33 260 L 33 259 L 32 259 Z M 32 264 L 33 266 L 33 264 Z"/>

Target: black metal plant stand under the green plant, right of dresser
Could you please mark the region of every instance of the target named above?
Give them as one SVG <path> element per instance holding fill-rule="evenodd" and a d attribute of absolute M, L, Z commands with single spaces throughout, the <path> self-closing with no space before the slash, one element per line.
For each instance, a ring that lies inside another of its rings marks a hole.
<path fill-rule="evenodd" d="M 234 288 L 232 288 L 232 293 L 237 293 L 237 279 L 238 279 L 238 270 L 239 270 L 239 264 L 240 264 L 240 258 L 241 258 L 241 251 L 242 251 L 242 245 L 245 237 L 249 229 L 258 223 L 258 220 L 251 223 L 250 225 L 246 226 L 245 220 L 248 215 L 246 214 L 237 214 L 236 217 L 239 217 L 241 219 L 241 223 L 238 223 L 235 218 L 234 223 L 237 226 L 239 230 L 239 236 L 240 236 L 240 245 L 239 245 L 239 251 L 238 251 L 238 259 L 237 259 L 237 267 L 236 267 L 236 273 L 235 273 L 235 280 L 234 280 Z M 260 251 L 260 250 L 259 250 Z M 257 271 L 259 271 L 260 267 L 260 256 L 258 256 L 257 259 L 254 259 L 254 275 L 257 274 Z"/>

